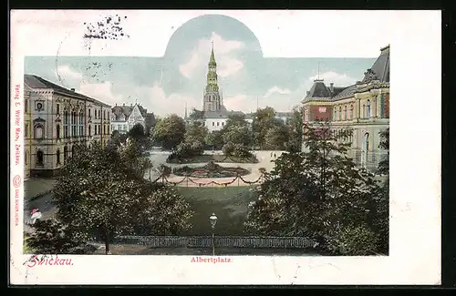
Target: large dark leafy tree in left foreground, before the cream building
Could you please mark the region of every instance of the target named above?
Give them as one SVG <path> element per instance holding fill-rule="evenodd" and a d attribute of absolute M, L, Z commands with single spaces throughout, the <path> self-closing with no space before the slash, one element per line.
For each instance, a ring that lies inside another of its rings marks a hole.
<path fill-rule="evenodd" d="M 118 151 L 93 146 L 67 161 L 54 188 L 57 219 L 66 225 L 72 239 L 103 240 L 106 253 L 109 253 L 109 242 L 115 235 L 130 234 L 145 216 L 150 215 L 152 199 L 168 194 L 167 188 L 161 189 L 159 195 L 154 193 L 152 189 L 157 188 L 148 187 L 150 182 L 137 176 L 123 160 Z M 161 209 L 153 208 L 168 215 L 168 219 L 162 219 L 155 227 L 166 228 L 175 219 L 187 219 L 188 215 L 182 215 L 180 206 L 185 202 L 180 197 L 173 198 L 162 203 Z"/>

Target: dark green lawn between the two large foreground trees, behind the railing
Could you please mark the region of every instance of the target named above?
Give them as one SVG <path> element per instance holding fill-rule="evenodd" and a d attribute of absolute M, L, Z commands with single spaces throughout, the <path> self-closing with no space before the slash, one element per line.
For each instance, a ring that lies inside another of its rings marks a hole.
<path fill-rule="evenodd" d="M 254 200 L 251 186 L 179 187 L 178 191 L 192 206 L 192 230 L 183 235 L 210 235 L 209 216 L 215 213 L 218 235 L 243 235 L 248 204 Z"/>

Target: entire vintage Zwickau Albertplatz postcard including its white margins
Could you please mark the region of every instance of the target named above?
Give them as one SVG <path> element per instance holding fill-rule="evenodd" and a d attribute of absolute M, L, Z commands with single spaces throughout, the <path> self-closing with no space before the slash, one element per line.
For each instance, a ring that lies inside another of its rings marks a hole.
<path fill-rule="evenodd" d="M 440 44 L 439 11 L 12 11 L 11 284 L 439 284 Z"/>

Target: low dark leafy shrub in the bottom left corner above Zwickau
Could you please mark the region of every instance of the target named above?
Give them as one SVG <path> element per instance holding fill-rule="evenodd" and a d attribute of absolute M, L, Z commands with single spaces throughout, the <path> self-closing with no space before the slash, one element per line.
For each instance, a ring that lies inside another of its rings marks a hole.
<path fill-rule="evenodd" d="M 35 231 L 26 244 L 37 254 L 71 254 L 80 252 L 84 241 L 75 240 L 71 232 L 56 219 L 37 220 Z"/>

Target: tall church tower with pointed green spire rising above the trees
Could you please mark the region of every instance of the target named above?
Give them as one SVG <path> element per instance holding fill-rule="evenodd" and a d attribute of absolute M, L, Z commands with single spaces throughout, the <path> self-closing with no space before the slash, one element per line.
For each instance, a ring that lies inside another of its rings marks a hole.
<path fill-rule="evenodd" d="M 202 98 L 202 111 L 223 111 L 225 108 L 222 104 L 222 99 L 219 93 L 219 86 L 217 84 L 217 63 L 213 54 L 213 41 L 211 57 L 209 58 L 207 82 L 204 88 L 204 96 Z"/>

